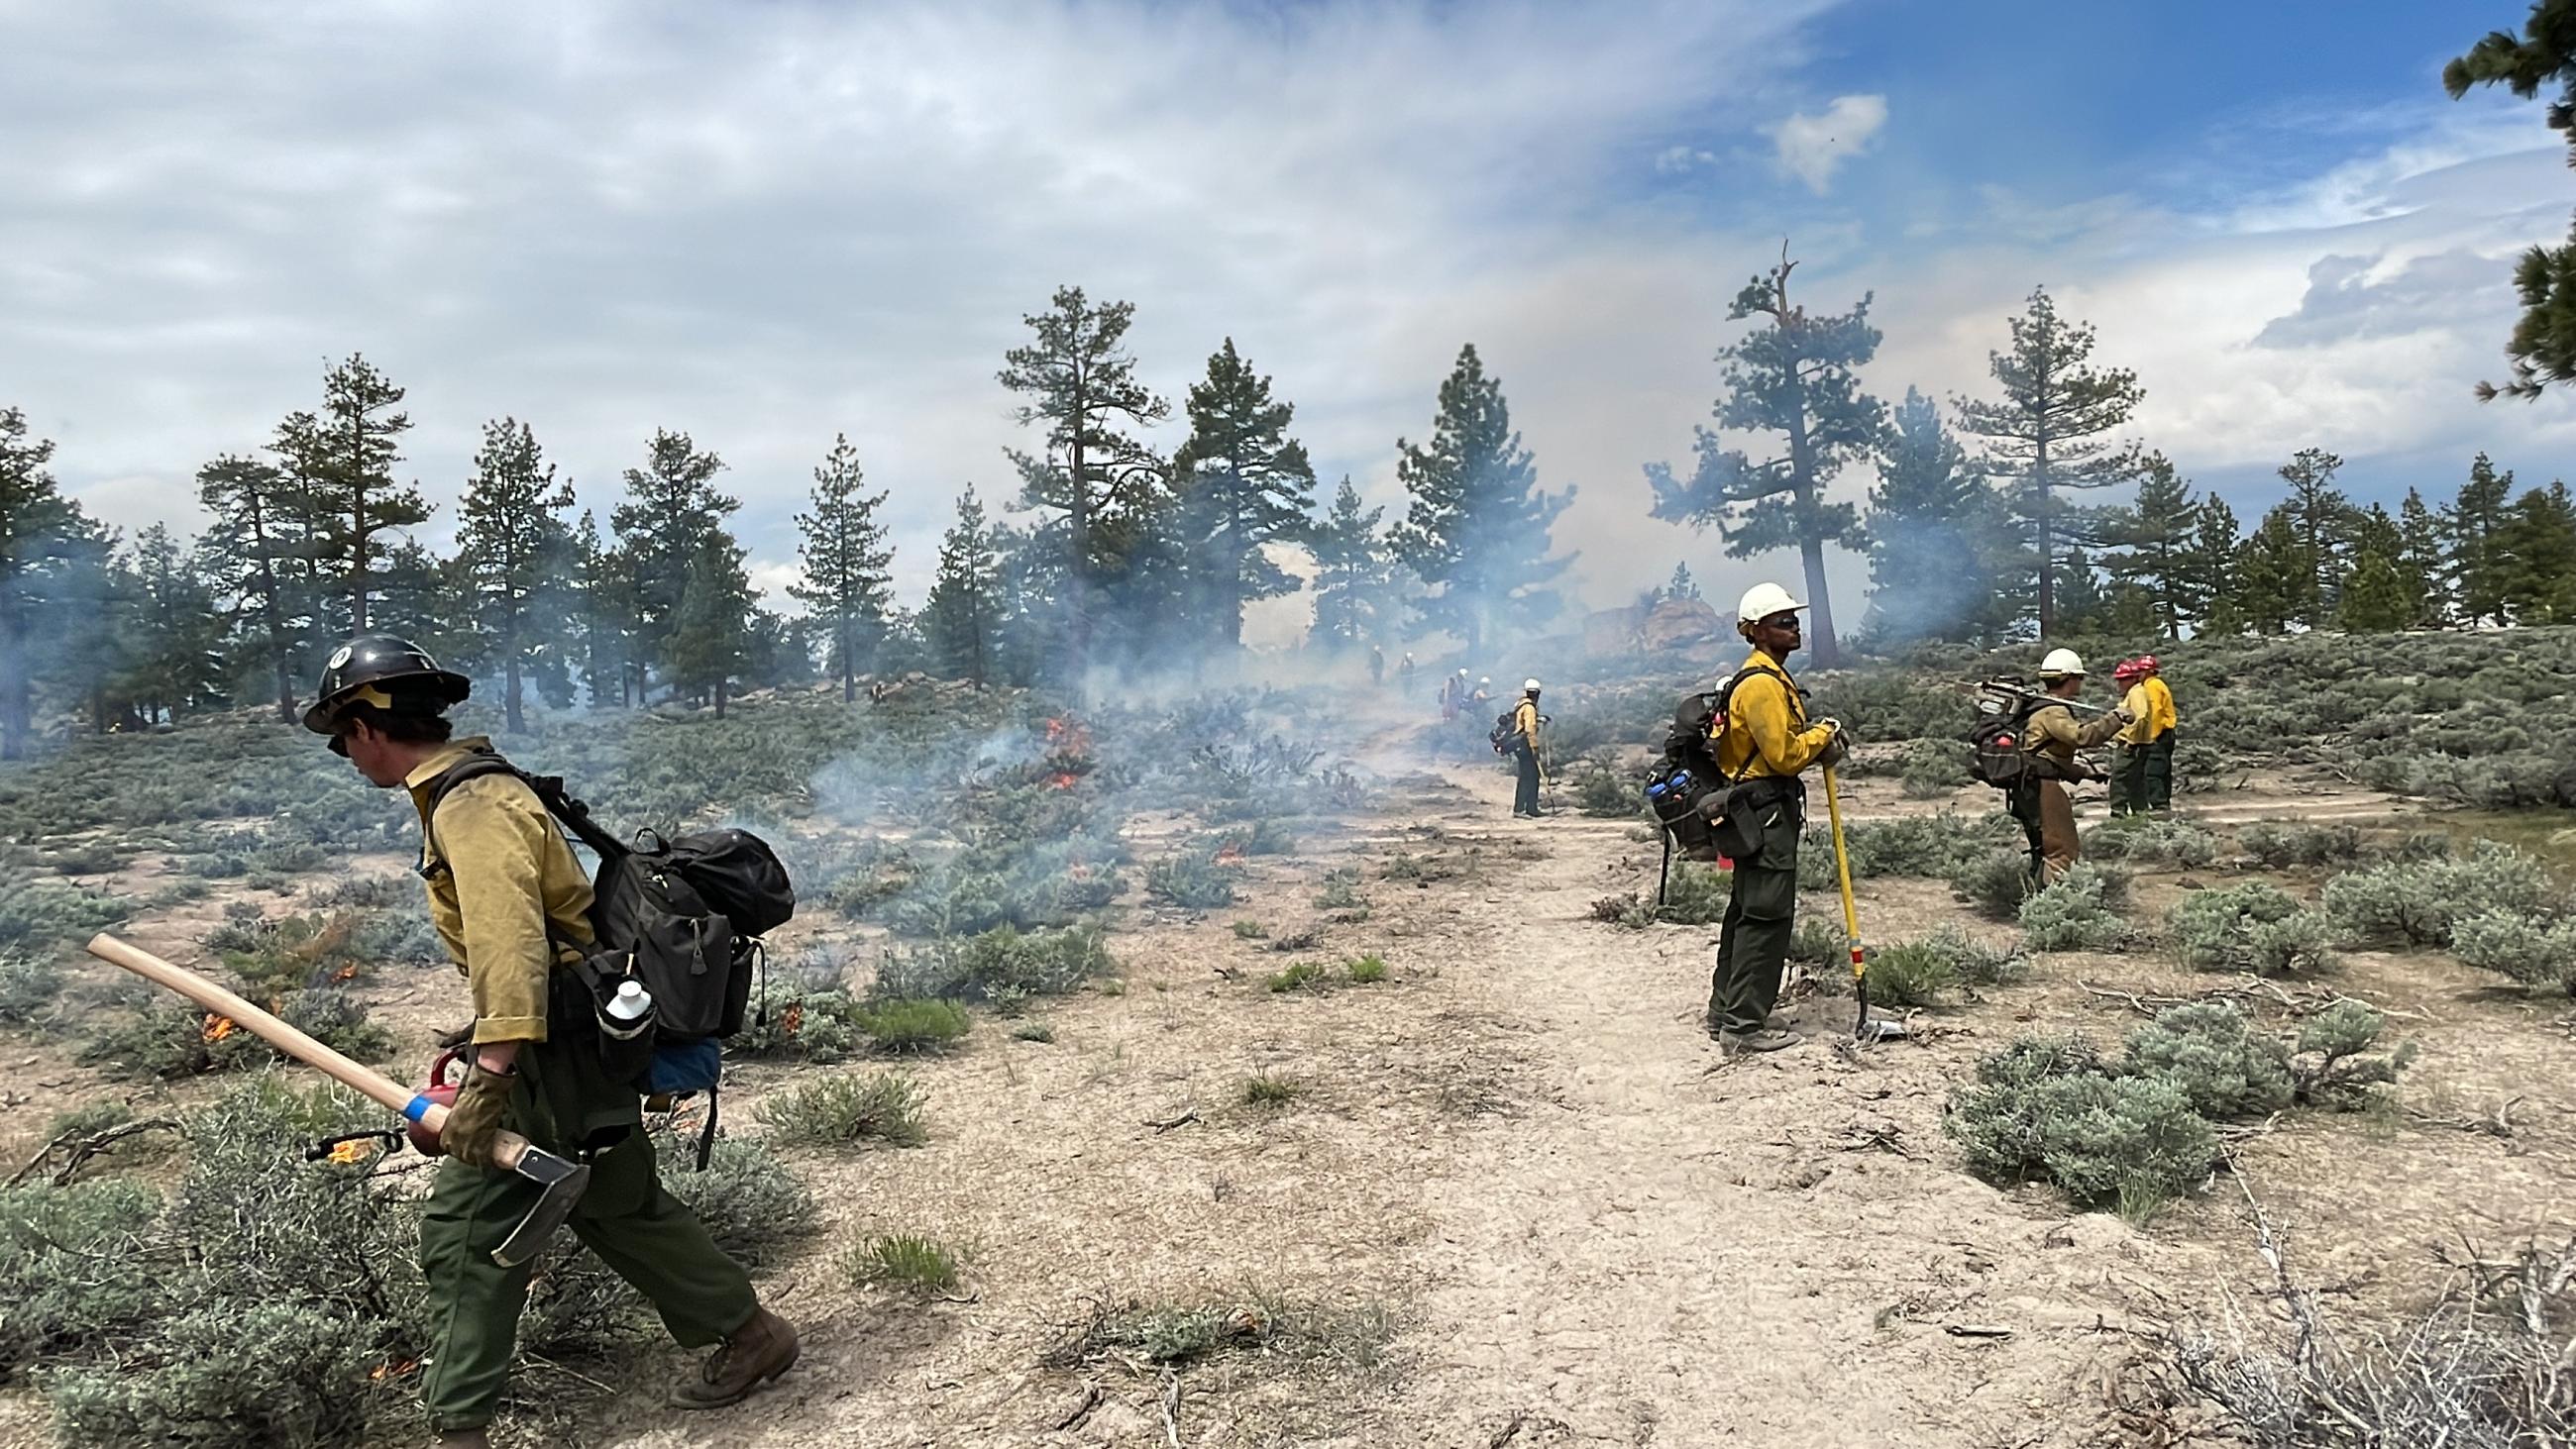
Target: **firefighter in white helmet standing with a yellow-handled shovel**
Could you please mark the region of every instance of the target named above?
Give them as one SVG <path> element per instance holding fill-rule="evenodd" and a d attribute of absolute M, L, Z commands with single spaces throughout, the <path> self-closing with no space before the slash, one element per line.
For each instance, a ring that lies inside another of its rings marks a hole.
<path fill-rule="evenodd" d="M 1731 785 L 1728 811 L 1757 824 L 1754 847 L 1736 854 L 1718 927 L 1718 965 L 1708 975 L 1708 1035 L 1728 1053 L 1798 1045 L 1770 1024 L 1780 973 L 1798 932 L 1798 831 L 1806 824 L 1803 770 L 1847 754 L 1842 726 L 1811 721 L 1806 695 L 1788 677 L 1803 646 L 1801 605 L 1780 584 L 1754 584 L 1736 602 L 1736 633 L 1752 643 L 1744 669 L 1726 687 L 1713 726 L 1718 775 Z"/>

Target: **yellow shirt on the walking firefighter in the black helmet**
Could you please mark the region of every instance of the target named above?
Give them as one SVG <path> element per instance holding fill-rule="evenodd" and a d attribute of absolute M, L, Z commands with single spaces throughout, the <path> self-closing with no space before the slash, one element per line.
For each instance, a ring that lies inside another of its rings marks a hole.
<path fill-rule="evenodd" d="M 523 780 L 482 775 L 448 790 L 430 821 L 430 780 L 489 739 L 459 739 L 402 785 L 420 811 L 420 872 L 430 924 L 474 993 L 477 1042 L 546 1040 L 549 945 L 590 942 L 590 880 L 564 831 Z M 569 955 L 569 952 L 564 952 Z"/>

